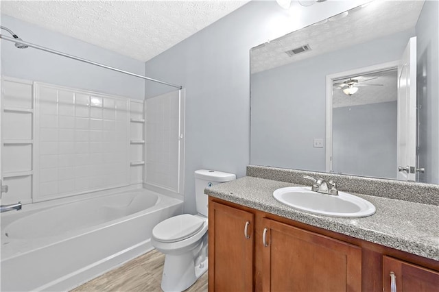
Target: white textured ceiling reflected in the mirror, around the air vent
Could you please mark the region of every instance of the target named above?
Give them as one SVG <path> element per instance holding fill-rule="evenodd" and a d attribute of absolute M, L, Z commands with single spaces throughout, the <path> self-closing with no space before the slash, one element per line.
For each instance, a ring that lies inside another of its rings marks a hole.
<path fill-rule="evenodd" d="M 416 25 L 423 1 L 379 1 L 354 8 L 252 49 L 251 71 L 257 73 L 336 51 Z M 310 51 L 292 57 L 285 51 L 309 44 Z"/>

